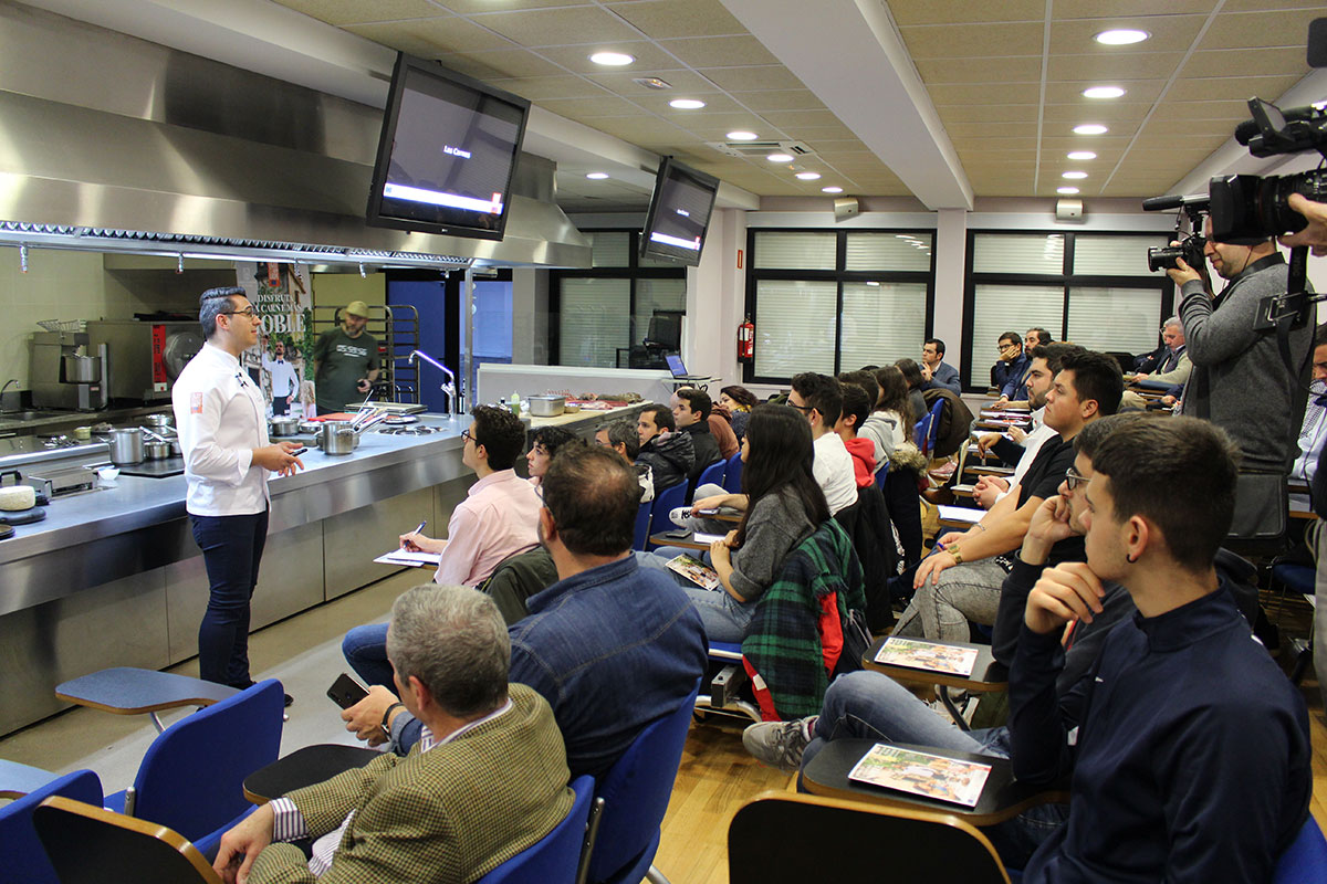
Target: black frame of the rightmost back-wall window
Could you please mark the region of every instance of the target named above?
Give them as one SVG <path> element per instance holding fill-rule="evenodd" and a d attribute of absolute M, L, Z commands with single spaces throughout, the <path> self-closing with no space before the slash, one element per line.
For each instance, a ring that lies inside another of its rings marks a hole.
<path fill-rule="evenodd" d="M 1063 236 L 1064 237 L 1064 260 L 1060 265 L 1060 273 L 990 273 L 982 272 L 977 273 L 973 265 L 977 258 L 977 237 L 983 233 L 1003 233 L 1003 235 L 1019 235 L 1019 236 Z M 1170 241 L 1170 235 L 1168 233 L 1152 233 L 1148 231 L 1064 231 L 1064 229 L 1016 229 L 1011 231 L 1007 228 L 970 228 L 967 231 L 967 254 L 963 262 L 963 333 L 962 333 L 962 351 L 961 359 L 963 370 L 959 372 L 959 379 L 962 383 L 963 392 L 986 392 L 990 384 L 974 384 L 973 383 L 973 347 L 977 345 L 973 341 L 973 334 L 975 331 L 977 321 L 977 286 L 978 285 L 1028 285 L 1028 286 L 1050 286 L 1062 289 L 1062 302 L 1060 302 L 1060 327 L 1048 329 L 1055 334 L 1056 341 L 1064 341 L 1068 334 L 1070 327 L 1070 290 L 1074 288 L 1082 289 L 1140 289 L 1149 290 L 1154 289 L 1161 294 L 1161 317 L 1157 321 L 1157 346 L 1161 343 L 1161 323 L 1165 322 L 1168 317 L 1174 315 L 1174 286 L 1170 284 L 1170 278 L 1164 273 L 1157 276 L 1103 276 L 1103 274 L 1089 274 L 1089 273 L 1070 273 L 1068 269 L 1074 266 L 1074 247 L 1078 236 L 1109 236 L 1109 237 L 1131 237 L 1140 239 L 1147 236 L 1156 236 L 1157 245 L 1165 245 Z M 1023 329 L 1009 329 L 1010 331 L 1018 331 L 1023 334 Z M 986 342 L 987 345 L 994 342 Z"/>

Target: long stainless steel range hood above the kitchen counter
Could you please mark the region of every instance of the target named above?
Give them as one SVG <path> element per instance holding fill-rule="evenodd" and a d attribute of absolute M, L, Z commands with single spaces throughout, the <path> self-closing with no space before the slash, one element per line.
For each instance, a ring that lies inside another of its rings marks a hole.
<path fill-rule="evenodd" d="M 585 266 L 523 154 L 500 243 L 364 223 L 381 110 L 0 1 L 0 243 L 316 264 Z"/>

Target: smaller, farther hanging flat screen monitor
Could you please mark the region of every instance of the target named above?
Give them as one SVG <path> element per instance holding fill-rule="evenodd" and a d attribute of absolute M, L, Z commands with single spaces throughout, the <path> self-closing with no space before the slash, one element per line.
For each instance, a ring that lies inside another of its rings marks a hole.
<path fill-rule="evenodd" d="M 719 179 L 667 156 L 654 179 L 650 213 L 641 235 L 641 257 L 695 266 L 710 227 Z"/>

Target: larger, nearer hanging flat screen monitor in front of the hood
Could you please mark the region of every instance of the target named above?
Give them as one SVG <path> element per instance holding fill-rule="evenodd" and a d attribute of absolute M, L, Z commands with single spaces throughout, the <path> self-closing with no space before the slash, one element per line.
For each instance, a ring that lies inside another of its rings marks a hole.
<path fill-rule="evenodd" d="M 519 95 L 397 56 L 368 223 L 500 240 L 528 115 Z"/>

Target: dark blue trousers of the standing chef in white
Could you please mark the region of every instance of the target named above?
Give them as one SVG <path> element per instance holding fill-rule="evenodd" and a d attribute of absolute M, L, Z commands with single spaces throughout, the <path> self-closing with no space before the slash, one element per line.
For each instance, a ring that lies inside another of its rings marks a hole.
<path fill-rule="evenodd" d="M 198 627 L 198 675 L 247 688 L 249 599 L 267 543 L 267 510 L 253 516 L 191 516 L 207 569 L 207 611 Z"/>

